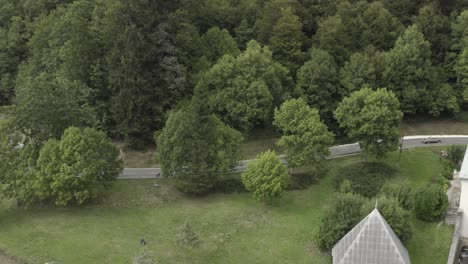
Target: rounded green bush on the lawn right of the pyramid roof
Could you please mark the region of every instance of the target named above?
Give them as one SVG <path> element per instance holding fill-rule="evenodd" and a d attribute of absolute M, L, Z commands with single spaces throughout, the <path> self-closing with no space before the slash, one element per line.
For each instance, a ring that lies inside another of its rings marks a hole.
<path fill-rule="evenodd" d="M 416 192 L 414 209 L 416 216 L 424 221 L 439 219 L 448 207 L 448 198 L 443 187 L 431 184 Z"/>

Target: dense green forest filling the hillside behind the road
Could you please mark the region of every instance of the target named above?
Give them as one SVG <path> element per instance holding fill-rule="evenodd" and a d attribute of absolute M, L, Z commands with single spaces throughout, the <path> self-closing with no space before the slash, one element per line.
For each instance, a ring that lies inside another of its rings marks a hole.
<path fill-rule="evenodd" d="M 454 114 L 468 99 L 463 0 L 1 0 L 0 105 L 37 142 L 92 126 L 153 141 L 198 98 L 241 132 L 303 98 L 333 111 L 387 88 L 405 116 Z"/>

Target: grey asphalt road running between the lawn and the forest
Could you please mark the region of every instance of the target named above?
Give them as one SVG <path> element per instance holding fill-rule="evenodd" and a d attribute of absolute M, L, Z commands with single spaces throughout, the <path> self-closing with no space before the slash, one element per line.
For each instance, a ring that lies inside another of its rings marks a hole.
<path fill-rule="evenodd" d="M 442 143 L 424 144 L 421 140 L 426 137 L 441 139 Z M 468 145 L 468 135 L 433 135 L 433 136 L 406 136 L 403 139 L 403 149 L 415 147 L 434 147 L 448 145 Z M 356 155 L 360 153 L 358 143 L 333 146 L 330 148 L 329 158 L 339 158 L 343 156 Z M 280 155 L 284 163 L 284 155 Z M 234 167 L 231 173 L 242 172 L 247 169 L 247 164 L 250 160 L 242 160 Z M 117 179 L 156 179 L 162 178 L 160 168 L 125 168 L 122 174 Z"/>

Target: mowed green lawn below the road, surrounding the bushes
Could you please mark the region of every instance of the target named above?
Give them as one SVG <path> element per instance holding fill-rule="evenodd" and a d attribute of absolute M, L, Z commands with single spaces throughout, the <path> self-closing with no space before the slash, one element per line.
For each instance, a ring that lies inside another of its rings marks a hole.
<path fill-rule="evenodd" d="M 397 155 L 386 162 L 394 165 Z M 0 209 L 0 249 L 28 263 L 130 263 L 143 248 L 159 263 L 331 263 L 313 243 L 334 192 L 340 167 L 359 156 L 328 161 L 329 171 L 306 190 L 288 191 L 274 205 L 248 193 L 186 198 L 168 180 L 118 181 L 99 201 L 83 208 Z M 426 184 L 440 172 L 431 149 L 403 153 L 391 181 Z M 188 221 L 201 243 L 177 245 L 178 227 Z M 413 219 L 408 250 L 413 264 L 445 263 L 452 226 Z M 140 246 L 144 238 L 146 246 Z"/>

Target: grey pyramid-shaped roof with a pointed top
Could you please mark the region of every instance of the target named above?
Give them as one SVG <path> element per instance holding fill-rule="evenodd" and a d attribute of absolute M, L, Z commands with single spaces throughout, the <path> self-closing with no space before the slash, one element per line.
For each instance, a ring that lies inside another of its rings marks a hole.
<path fill-rule="evenodd" d="M 333 247 L 333 264 L 410 264 L 408 251 L 374 209 Z"/>

